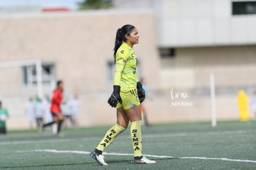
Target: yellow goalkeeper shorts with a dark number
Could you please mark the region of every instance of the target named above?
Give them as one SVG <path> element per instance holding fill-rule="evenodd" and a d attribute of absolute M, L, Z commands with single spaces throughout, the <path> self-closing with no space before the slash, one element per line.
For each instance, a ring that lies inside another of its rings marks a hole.
<path fill-rule="evenodd" d="M 116 108 L 123 108 L 124 110 L 127 110 L 130 108 L 134 108 L 134 105 L 140 105 L 137 89 L 130 91 L 120 91 L 120 96 L 122 99 L 122 104 L 118 102 Z"/>

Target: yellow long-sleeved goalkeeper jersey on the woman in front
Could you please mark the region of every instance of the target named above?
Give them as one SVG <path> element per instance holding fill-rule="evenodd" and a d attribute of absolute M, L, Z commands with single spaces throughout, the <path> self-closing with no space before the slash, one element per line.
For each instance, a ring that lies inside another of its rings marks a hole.
<path fill-rule="evenodd" d="M 114 68 L 114 85 L 120 85 L 121 91 L 134 90 L 137 87 L 137 57 L 135 51 L 126 43 L 117 49 Z"/>

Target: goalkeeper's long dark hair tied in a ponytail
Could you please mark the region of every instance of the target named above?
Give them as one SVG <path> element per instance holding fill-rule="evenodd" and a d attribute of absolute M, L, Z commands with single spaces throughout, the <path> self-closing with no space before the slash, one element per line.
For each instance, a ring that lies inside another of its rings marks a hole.
<path fill-rule="evenodd" d="M 117 49 L 122 45 L 123 41 L 126 41 L 124 36 L 130 35 L 130 32 L 132 32 L 134 28 L 134 25 L 124 25 L 121 28 L 118 28 L 116 32 L 116 41 L 114 42 L 114 62 L 116 62 Z"/>

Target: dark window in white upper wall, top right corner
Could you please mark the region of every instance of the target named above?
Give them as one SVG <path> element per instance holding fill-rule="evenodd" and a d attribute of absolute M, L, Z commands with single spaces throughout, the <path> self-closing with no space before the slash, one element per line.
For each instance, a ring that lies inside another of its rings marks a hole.
<path fill-rule="evenodd" d="M 232 14 L 256 14 L 256 1 L 234 1 L 232 2 Z"/>

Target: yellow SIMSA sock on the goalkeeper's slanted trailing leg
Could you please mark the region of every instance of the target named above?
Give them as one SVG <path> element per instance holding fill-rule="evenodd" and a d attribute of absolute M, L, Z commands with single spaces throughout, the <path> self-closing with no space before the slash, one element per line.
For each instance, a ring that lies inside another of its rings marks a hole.
<path fill-rule="evenodd" d="M 119 124 L 113 125 L 108 132 L 106 132 L 104 138 L 99 143 L 98 147 L 96 147 L 97 150 L 103 151 L 105 148 L 107 148 L 113 140 L 121 134 L 126 128 L 122 127 Z"/>

